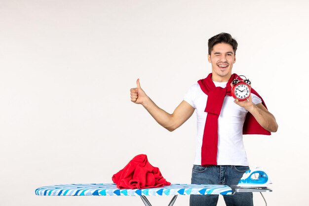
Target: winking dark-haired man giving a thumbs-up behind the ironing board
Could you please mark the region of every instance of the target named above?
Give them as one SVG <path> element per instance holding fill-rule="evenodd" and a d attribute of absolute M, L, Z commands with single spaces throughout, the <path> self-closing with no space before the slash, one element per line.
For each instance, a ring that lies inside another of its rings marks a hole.
<path fill-rule="evenodd" d="M 208 61 L 212 73 L 199 80 L 185 95 L 173 114 L 168 114 L 146 95 L 139 79 L 131 88 L 131 101 L 142 104 L 155 121 L 169 131 L 197 116 L 197 143 L 192 169 L 192 184 L 237 185 L 249 169 L 242 134 L 275 132 L 278 125 L 263 99 L 252 89 L 248 101 L 231 96 L 232 74 L 237 42 L 227 33 L 208 40 Z M 239 79 L 239 78 L 238 78 Z M 224 196 L 227 206 L 253 206 L 252 193 Z M 216 206 L 218 195 L 192 195 L 190 206 Z"/>

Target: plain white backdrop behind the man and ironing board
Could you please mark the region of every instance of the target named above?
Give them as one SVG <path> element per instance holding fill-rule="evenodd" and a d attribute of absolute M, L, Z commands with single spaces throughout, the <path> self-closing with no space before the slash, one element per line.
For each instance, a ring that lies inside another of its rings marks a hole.
<path fill-rule="evenodd" d="M 169 132 L 129 89 L 140 78 L 172 113 L 211 72 L 207 41 L 220 32 L 239 44 L 233 72 L 252 81 L 279 124 L 271 136 L 244 136 L 251 167 L 273 182 L 269 206 L 308 205 L 308 8 L 306 0 L 0 0 L 0 205 L 142 206 L 138 197 L 35 195 L 46 185 L 110 183 L 138 154 L 168 181 L 190 183 L 195 114 Z M 258 193 L 254 202 L 264 205 Z M 189 196 L 175 203 L 187 205 Z"/>

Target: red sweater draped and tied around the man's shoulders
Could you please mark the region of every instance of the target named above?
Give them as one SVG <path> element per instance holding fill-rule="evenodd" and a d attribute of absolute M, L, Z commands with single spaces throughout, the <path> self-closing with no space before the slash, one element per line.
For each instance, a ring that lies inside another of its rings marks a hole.
<path fill-rule="evenodd" d="M 234 79 L 242 80 L 238 75 L 232 74 L 226 87 L 222 88 L 220 86 L 216 87 L 211 77 L 212 73 L 210 73 L 205 79 L 198 81 L 201 90 L 208 96 L 205 108 L 207 117 L 201 148 L 201 165 L 203 166 L 217 165 L 218 118 L 221 113 L 223 101 L 226 95 L 232 96 L 231 82 Z M 265 108 L 267 108 L 264 100 L 258 92 L 251 88 L 251 93 L 257 95 L 262 100 L 262 104 Z M 264 129 L 249 112 L 246 115 L 242 133 L 270 135 L 270 132 Z"/>

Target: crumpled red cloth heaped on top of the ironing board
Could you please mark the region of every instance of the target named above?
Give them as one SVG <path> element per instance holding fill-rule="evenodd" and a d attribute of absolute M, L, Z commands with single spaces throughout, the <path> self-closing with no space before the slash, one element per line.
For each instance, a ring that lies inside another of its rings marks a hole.
<path fill-rule="evenodd" d="M 146 155 L 135 156 L 123 169 L 112 177 L 119 189 L 143 189 L 170 185 L 159 168 L 148 162 Z"/>

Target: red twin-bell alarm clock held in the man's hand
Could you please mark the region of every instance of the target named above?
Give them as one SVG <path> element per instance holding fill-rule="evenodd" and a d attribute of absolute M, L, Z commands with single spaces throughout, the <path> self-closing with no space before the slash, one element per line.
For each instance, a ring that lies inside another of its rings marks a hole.
<path fill-rule="evenodd" d="M 240 75 L 242 77 L 245 77 L 243 75 Z M 246 77 L 245 77 L 246 78 Z M 239 101 L 247 100 L 251 94 L 251 82 L 249 79 L 245 80 L 233 80 L 232 81 L 232 97 L 234 99 L 238 99 Z M 249 101 L 249 100 L 248 100 Z"/>

